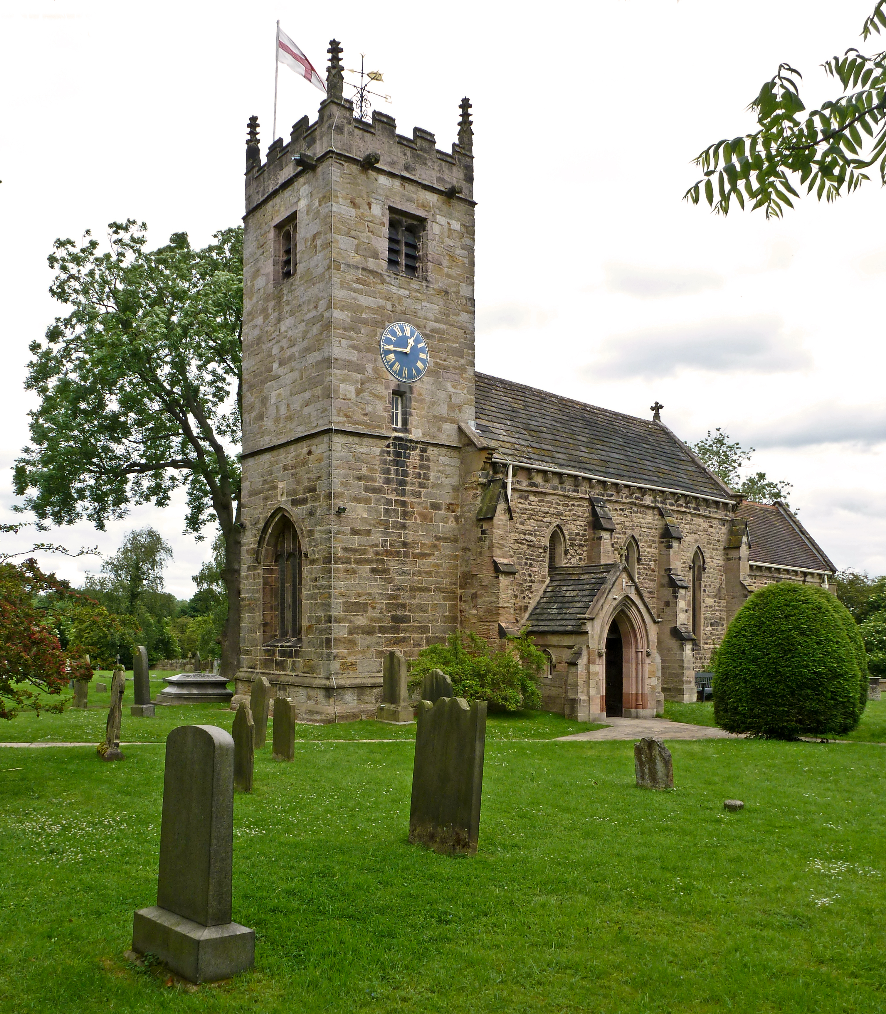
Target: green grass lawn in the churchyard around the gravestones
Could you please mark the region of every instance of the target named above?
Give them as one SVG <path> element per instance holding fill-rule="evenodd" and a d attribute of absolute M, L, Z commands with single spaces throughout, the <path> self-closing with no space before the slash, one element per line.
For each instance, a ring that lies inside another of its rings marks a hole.
<path fill-rule="evenodd" d="M 126 715 L 124 738 L 231 714 L 169 711 Z M 33 721 L 74 739 L 61 723 L 93 714 Z M 19 721 L 7 739 L 31 738 Z M 110 765 L 0 750 L 0 1011 L 886 1010 L 886 751 L 673 741 L 677 789 L 654 793 L 630 742 L 493 731 L 544 725 L 490 722 L 473 858 L 407 843 L 408 739 L 305 726 L 318 739 L 294 764 L 262 750 L 234 806 L 233 918 L 256 930 L 256 969 L 193 992 L 125 957 L 156 896 L 159 742 Z"/>

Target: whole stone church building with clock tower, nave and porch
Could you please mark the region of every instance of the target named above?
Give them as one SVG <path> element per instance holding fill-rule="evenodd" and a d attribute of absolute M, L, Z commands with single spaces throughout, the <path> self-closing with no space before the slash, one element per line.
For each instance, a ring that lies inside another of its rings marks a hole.
<path fill-rule="evenodd" d="M 835 568 L 662 422 L 474 369 L 473 130 L 355 119 L 330 44 L 318 118 L 247 143 L 243 626 L 305 721 L 371 718 L 385 654 L 528 630 L 544 707 L 695 700 L 747 596 Z"/>

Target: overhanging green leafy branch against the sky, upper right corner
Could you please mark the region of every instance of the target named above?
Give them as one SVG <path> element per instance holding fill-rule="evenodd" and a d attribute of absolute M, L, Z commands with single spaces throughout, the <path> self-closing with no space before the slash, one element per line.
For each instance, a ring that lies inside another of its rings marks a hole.
<path fill-rule="evenodd" d="M 863 40 L 883 26 L 886 0 L 878 0 Z M 794 184 L 819 201 L 834 201 L 869 179 L 865 169 L 879 162 L 886 185 L 886 52 L 865 56 L 853 47 L 823 66 L 840 83 L 837 97 L 807 111 L 798 84 L 803 75 L 782 63 L 748 106 L 759 130 L 705 148 L 695 159 L 704 175 L 685 198 L 698 204 L 703 195 L 723 215 L 733 199 L 741 208 L 747 200 L 777 218 L 800 196 Z"/>

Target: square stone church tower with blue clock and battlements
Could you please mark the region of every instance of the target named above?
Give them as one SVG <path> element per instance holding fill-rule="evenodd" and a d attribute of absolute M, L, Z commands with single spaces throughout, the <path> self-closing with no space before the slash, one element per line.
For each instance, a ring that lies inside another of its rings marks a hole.
<path fill-rule="evenodd" d="M 250 122 L 237 691 L 265 675 L 301 717 L 342 721 L 373 715 L 386 651 L 459 626 L 473 132 L 467 99 L 452 152 L 355 120 L 329 54 L 316 123 L 265 163 Z"/>

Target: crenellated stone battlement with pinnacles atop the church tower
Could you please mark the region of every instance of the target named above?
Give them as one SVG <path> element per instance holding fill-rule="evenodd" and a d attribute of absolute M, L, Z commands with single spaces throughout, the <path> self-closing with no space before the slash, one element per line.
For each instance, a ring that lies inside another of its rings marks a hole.
<path fill-rule="evenodd" d="M 337 80 L 341 53 L 337 43 L 330 44 L 333 54 L 327 70 L 328 97 L 320 105 L 312 124 L 302 117 L 293 124 L 288 143 L 276 138 L 261 160 L 259 124 L 252 117 L 247 139 L 246 213 L 249 214 L 281 187 L 297 176 L 314 171 L 330 158 L 357 162 L 367 172 L 399 176 L 446 194 L 451 199 L 473 198 L 474 158 L 471 103 L 461 102 L 459 140 L 452 152 L 436 147 L 434 135 L 415 127 L 412 137 L 397 133 L 393 117 L 373 111 L 372 122 L 354 118 L 353 103 L 338 97 Z"/>

